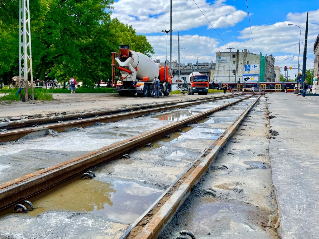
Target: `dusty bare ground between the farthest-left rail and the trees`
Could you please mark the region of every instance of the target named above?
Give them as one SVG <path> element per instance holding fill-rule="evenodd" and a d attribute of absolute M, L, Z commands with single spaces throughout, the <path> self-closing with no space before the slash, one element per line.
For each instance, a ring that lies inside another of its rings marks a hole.
<path fill-rule="evenodd" d="M 230 93 L 226 93 L 229 95 Z M 185 99 L 207 98 L 223 96 L 223 93 L 209 93 L 208 95 L 180 95 L 155 97 L 123 97 L 117 93 L 75 93 L 53 94 L 52 101 L 0 102 L 0 118 L 41 118 L 46 116 L 68 113 L 88 112 L 105 109 L 116 109 L 132 105 L 150 103 L 182 101 Z M 0 94 L 1 96 L 1 94 Z"/>

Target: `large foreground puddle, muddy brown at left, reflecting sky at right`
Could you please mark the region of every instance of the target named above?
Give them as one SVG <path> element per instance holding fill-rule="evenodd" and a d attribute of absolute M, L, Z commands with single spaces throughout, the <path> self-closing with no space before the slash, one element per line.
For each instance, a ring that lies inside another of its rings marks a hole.
<path fill-rule="evenodd" d="M 163 192 L 134 182 L 117 180 L 105 183 L 96 179 L 79 179 L 79 177 L 27 199 L 35 208 L 33 211 L 28 211 L 28 216 L 38 216 L 48 211 L 70 211 L 131 223 Z M 11 206 L 10 210 L 3 210 L 0 216 L 15 214 L 12 213 L 12 208 Z"/>

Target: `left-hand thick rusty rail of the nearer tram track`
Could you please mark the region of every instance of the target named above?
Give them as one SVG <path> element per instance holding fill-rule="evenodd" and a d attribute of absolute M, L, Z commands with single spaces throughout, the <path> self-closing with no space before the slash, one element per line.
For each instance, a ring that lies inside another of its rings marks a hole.
<path fill-rule="evenodd" d="M 234 105 L 250 97 L 252 96 L 238 99 L 234 102 L 221 105 L 178 122 L 174 122 L 165 127 L 160 127 L 152 131 L 145 132 L 110 146 L 100 148 L 99 150 L 89 152 L 46 169 L 39 170 L 0 184 L 0 210 L 22 199 L 46 190 L 56 184 L 59 184 L 70 177 L 76 176 L 95 165 L 115 159 L 116 157 L 121 156 L 122 154 L 134 148 L 145 145 L 150 141 L 154 141 L 163 135 L 177 130 L 189 123 L 200 120 L 213 112 L 219 111 L 230 105 Z"/>

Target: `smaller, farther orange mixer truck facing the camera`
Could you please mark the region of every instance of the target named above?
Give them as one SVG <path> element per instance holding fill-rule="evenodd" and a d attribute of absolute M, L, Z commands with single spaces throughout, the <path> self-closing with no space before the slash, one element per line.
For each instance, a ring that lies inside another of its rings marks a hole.
<path fill-rule="evenodd" d="M 195 71 L 189 75 L 189 83 L 187 85 L 187 94 L 194 95 L 207 95 L 209 88 L 208 76 L 202 75 L 199 72 Z"/>

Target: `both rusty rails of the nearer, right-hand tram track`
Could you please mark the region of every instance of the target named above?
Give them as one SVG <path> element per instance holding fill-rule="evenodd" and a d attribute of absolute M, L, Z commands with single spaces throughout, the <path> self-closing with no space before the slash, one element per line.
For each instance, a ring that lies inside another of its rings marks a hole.
<path fill-rule="evenodd" d="M 188 124 L 200 121 L 213 112 L 220 111 L 221 109 L 239 103 L 242 100 L 249 99 L 250 97 L 252 96 L 244 97 L 229 104 L 225 104 L 176 123 L 169 124 L 164 128 L 157 128 L 154 129 L 154 131 L 148 131 L 136 137 L 104 147 L 100 150 L 90 152 L 44 170 L 37 171 L 33 174 L 28 174 L 1 184 L 0 207 L 3 209 L 11 206 L 19 200 L 30 197 L 31 195 L 46 190 L 53 185 L 68 180 L 72 176 L 85 172 L 86 170 L 91 169 L 94 165 L 116 159 L 130 150 L 155 141 L 165 134 L 169 134 L 170 132 L 176 131 L 181 127 L 185 127 Z M 169 221 L 174 215 L 178 206 L 186 199 L 193 185 L 197 183 L 201 175 L 205 172 L 205 170 L 207 170 L 211 160 L 214 159 L 220 148 L 222 148 L 226 143 L 227 139 L 229 139 L 229 137 L 236 131 L 241 120 L 244 119 L 259 97 L 254 99 L 252 104 L 250 104 L 244 112 L 236 118 L 231 126 L 219 136 L 214 144 L 204 150 L 199 158 L 188 166 L 184 173 L 166 189 L 161 197 L 159 197 L 142 216 L 131 224 L 121 238 L 157 238 L 159 232 L 166 225 L 167 221 Z"/>

